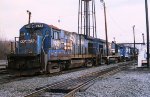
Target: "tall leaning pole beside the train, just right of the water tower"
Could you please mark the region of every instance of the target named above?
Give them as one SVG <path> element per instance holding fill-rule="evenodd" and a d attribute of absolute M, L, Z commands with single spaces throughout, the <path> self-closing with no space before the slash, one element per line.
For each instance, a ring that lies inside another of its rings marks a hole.
<path fill-rule="evenodd" d="M 106 55 L 107 55 L 107 58 L 108 58 L 108 36 L 107 36 L 106 5 L 105 5 L 105 2 L 103 0 L 100 0 L 100 2 L 102 2 L 103 6 L 104 6 L 105 34 L 106 34 Z M 107 60 L 107 64 L 108 64 L 108 60 Z"/>

